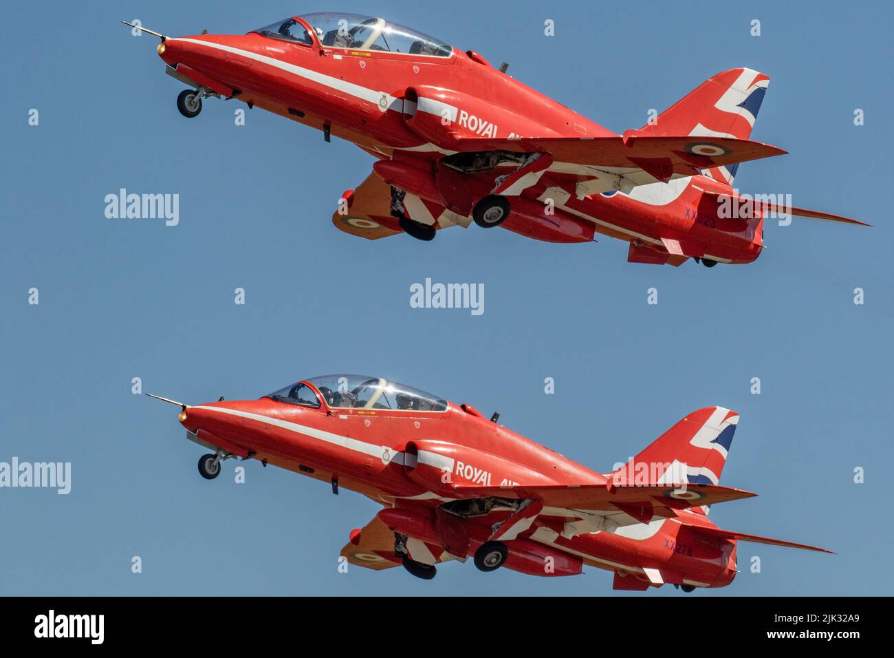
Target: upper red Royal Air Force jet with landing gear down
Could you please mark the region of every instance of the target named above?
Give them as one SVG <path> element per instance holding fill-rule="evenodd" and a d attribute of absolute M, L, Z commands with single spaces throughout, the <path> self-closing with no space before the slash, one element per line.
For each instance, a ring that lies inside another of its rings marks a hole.
<path fill-rule="evenodd" d="M 751 69 L 718 73 L 618 135 L 506 64 L 372 16 L 309 13 L 245 35 L 144 31 L 190 87 L 177 98 L 182 115 L 198 115 L 203 98 L 237 98 L 374 156 L 373 174 L 333 215 L 370 240 L 431 240 L 474 221 L 553 243 L 598 232 L 627 241 L 630 262 L 712 267 L 755 261 L 765 218 L 863 224 L 733 189 L 739 163 L 785 152 L 748 139 L 769 82 Z"/>

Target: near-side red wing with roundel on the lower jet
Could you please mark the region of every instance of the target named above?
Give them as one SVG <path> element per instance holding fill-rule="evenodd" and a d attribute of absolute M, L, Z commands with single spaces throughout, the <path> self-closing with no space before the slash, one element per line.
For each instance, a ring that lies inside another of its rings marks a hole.
<path fill-rule="evenodd" d="M 550 484 L 535 486 L 477 487 L 454 485 L 453 495 L 460 498 L 511 498 L 540 500 L 544 508 L 587 511 L 625 512 L 640 521 L 654 516 L 670 516 L 670 509 L 685 509 L 751 498 L 756 493 L 718 484 Z"/>

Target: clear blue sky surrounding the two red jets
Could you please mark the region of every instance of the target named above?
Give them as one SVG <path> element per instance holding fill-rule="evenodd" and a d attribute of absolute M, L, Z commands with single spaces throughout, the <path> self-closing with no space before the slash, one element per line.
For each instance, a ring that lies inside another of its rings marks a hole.
<path fill-rule="evenodd" d="M 790 155 L 743 165 L 739 188 L 875 227 L 796 218 L 767 227 L 755 264 L 711 270 L 628 264 L 610 239 L 552 245 L 475 226 L 370 243 L 330 217 L 372 158 L 257 108 L 237 127 L 234 102 L 184 119 L 156 39 L 118 22 L 242 33 L 329 9 L 508 61 L 617 132 L 713 73 L 755 68 L 772 81 L 753 138 Z M 762 573 L 693 595 L 890 594 L 890 4 L 16 3 L 4 18 L 0 461 L 70 461 L 72 493 L 0 490 L 0 594 L 611 594 L 611 573 L 594 568 L 339 574 L 372 501 L 254 462 L 245 484 L 233 462 L 207 483 L 177 409 L 131 394 L 140 377 L 189 403 L 259 397 L 329 372 L 498 410 L 601 470 L 693 409 L 730 406 L 742 420 L 722 483 L 761 496 L 713 520 L 839 555 L 742 544 L 740 564 L 759 555 Z M 121 187 L 179 193 L 180 226 L 105 218 Z M 484 283 L 484 315 L 411 309 L 409 286 L 426 277 Z M 667 594 L 679 595 L 636 595 Z"/>

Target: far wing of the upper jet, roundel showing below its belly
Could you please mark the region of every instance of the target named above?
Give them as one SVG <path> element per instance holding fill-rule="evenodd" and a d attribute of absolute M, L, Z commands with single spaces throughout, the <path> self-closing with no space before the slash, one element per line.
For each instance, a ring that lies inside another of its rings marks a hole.
<path fill-rule="evenodd" d="M 372 173 L 356 190 L 342 194 L 344 200 L 333 214 L 336 228 L 350 235 L 378 240 L 403 233 L 398 218 L 392 215 L 392 187 L 379 175 Z M 463 218 L 443 206 L 425 201 L 406 192 L 400 200 L 404 214 L 420 224 L 435 229 L 460 224 L 468 226 L 471 218 Z"/>

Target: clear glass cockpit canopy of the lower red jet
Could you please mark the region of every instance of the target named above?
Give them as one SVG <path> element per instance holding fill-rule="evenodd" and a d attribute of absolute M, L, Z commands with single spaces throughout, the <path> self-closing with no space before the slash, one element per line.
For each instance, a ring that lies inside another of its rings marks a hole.
<path fill-rule="evenodd" d="M 447 410 L 447 400 L 443 397 L 399 384 L 396 381 L 367 375 L 314 377 L 298 381 L 264 397 L 269 397 L 276 402 L 319 408 L 320 396 L 326 406 L 338 409 L 434 412 Z"/>

